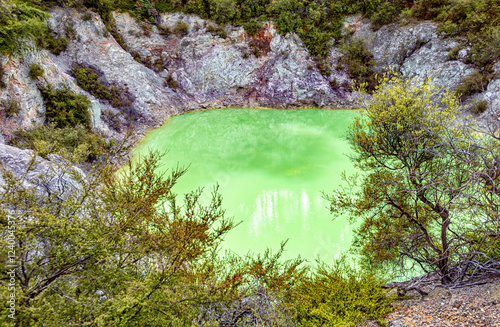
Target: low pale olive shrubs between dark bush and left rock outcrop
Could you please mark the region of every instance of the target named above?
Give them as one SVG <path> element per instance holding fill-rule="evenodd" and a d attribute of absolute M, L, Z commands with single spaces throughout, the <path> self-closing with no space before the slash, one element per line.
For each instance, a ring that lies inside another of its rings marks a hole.
<path fill-rule="evenodd" d="M 103 156 L 113 143 L 82 125 L 56 128 L 55 124 L 49 124 L 17 130 L 10 144 L 34 150 L 43 158 L 57 154 L 71 162 L 81 163 Z"/>

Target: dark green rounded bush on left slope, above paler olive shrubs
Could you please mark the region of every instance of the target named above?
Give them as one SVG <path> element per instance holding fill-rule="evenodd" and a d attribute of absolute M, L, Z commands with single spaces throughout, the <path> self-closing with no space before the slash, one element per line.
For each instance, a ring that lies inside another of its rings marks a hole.
<path fill-rule="evenodd" d="M 45 104 L 45 117 L 56 127 L 83 125 L 90 128 L 90 101 L 84 95 L 73 93 L 69 88 L 54 89 L 52 85 L 41 87 Z"/>

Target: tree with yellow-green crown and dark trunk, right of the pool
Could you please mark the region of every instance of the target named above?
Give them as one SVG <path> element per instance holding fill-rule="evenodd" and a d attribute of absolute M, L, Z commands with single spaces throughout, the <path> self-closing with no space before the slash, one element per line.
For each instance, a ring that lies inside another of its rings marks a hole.
<path fill-rule="evenodd" d="M 467 260 L 485 255 L 483 241 L 498 228 L 498 218 L 492 219 L 498 215 L 488 210 L 497 207 L 488 195 L 474 194 L 488 183 L 478 183 L 476 171 L 484 172 L 491 160 L 473 159 L 487 146 L 471 133 L 469 142 L 477 146 L 465 142 L 458 110 L 456 98 L 431 81 L 396 77 L 375 89 L 350 127 L 353 161 L 362 174 L 345 177 L 348 186 L 327 198 L 333 213 L 361 220 L 354 246 L 366 266 L 402 275 L 437 272 L 450 283 L 471 273 Z M 487 179 L 496 181 L 488 171 Z"/>

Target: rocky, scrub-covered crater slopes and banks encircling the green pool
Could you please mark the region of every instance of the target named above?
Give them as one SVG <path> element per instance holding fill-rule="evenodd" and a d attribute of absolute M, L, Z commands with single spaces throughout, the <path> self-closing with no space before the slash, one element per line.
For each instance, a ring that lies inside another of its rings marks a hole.
<path fill-rule="evenodd" d="M 1 253 L 17 264 L 0 324 L 496 326 L 499 10 L 0 0 Z M 116 177 L 148 130 L 219 107 L 367 109 L 348 136 L 366 176 L 345 178 L 362 191 L 324 195 L 365 224 L 359 269 L 283 262 L 284 245 L 220 259 L 235 222 L 217 188 L 176 202 L 185 170 L 159 174 L 157 153 Z M 410 261 L 436 275 L 386 284 Z"/>

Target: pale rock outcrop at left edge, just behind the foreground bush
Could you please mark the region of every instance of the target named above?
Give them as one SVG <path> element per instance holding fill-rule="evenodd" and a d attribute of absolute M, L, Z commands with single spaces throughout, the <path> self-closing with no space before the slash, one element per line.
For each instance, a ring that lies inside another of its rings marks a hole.
<path fill-rule="evenodd" d="M 35 189 L 38 195 L 50 193 L 59 197 L 77 192 L 77 180 L 85 177 L 82 170 L 55 155 L 46 160 L 33 151 L 0 144 L 0 191 L 4 191 L 6 183 L 4 172 L 20 179 L 23 187 Z"/>

